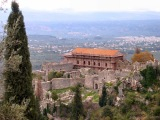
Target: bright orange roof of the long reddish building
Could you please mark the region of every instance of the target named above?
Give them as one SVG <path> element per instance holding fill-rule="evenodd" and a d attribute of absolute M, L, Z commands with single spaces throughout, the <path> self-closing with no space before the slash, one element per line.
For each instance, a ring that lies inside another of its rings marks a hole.
<path fill-rule="evenodd" d="M 94 48 L 76 48 L 72 51 L 73 55 L 95 55 L 95 56 L 117 56 L 122 55 L 118 50 L 94 49 Z"/>

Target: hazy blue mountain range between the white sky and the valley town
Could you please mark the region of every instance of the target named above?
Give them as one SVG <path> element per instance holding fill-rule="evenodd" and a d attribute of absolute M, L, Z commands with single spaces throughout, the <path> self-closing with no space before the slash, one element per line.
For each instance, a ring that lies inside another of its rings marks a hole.
<path fill-rule="evenodd" d="M 0 20 L 8 13 L 0 12 Z M 23 12 L 28 34 L 56 37 L 160 36 L 160 12 Z M 0 28 L 1 30 L 1 28 Z"/>

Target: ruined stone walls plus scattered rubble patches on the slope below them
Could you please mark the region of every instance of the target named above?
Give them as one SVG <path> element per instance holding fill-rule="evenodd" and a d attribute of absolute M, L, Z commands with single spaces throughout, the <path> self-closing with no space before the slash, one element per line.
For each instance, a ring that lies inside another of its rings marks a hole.
<path fill-rule="evenodd" d="M 41 82 L 44 91 L 43 100 L 41 101 L 41 108 L 45 108 L 47 104 L 54 103 L 51 99 L 51 93 L 48 92 L 48 90 L 67 88 L 80 82 L 84 85 L 84 87 L 97 90 L 99 91 L 99 94 L 101 94 L 100 92 L 102 91 L 102 86 L 104 83 L 113 83 L 113 85 L 115 85 L 118 81 L 120 81 L 120 85 L 118 86 L 118 96 L 116 96 L 116 99 L 114 100 L 114 105 L 119 106 L 121 101 L 124 99 L 123 89 L 129 88 L 132 90 L 137 90 L 141 87 L 140 80 L 142 79 L 142 76 L 140 75 L 140 70 L 145 69 L 147 65 L 156 67 L 160 64 L 158 61 L 148 61 L 146 64 L 138 62 L 131 64 L 128 61 L 119 61 L 119 67 L 117 70 L 93 70 L 91 68 L 71 69 L 72 67 L 70 65 L 70 69 L 68 69 L 68 65 L 63 66 L 61 64 L 59 68 L 57 68 L 57 64 L 55 65 L 56 67 L 53 65 L 53 67 L 47 69 L 49 67 L 49 64 L 47 64 L 48 67 L 43 66 L 43 71 L 38 71 L 38 74 L 42 74 L 42 78 L 44 79 L 42 80 L 43 82 Z M 66 66 L 67 68 L 65 69 Z M 46 79 L 48 77 L 48 72 L 53 70 L 53 68 L 56 68 L 58 71 L 65 71 L 63 78 L 54 78 L 51 81 L 48 81 Z M 108 91 L 109 93 L 112 93 L 114 90 L 113 88 L 110 88 Z M 48 97 L 46 97 L 47 95 Z M 59 97 L 62 101 L 68 101 L 69 103 L 73 99 L 73 96 L 74 95 L 69 92 L 63 93 Z M 88 104 L 90 101 L 92 101 L 92 96 L 89 96 L 86 101 L 84 101 L 84 104 Z M 56 104 L 58 106 L 57 102 Z M 90 108 L 93 106 L 88 107 Z"/>

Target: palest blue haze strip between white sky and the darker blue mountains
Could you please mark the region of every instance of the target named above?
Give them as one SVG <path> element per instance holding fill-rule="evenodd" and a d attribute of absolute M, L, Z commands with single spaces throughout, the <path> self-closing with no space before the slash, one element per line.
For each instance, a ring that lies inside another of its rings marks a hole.
<path fill-rule="evenodd" d="M 26 21 L 160 20 L 160 12 L 23 12 Z"/>

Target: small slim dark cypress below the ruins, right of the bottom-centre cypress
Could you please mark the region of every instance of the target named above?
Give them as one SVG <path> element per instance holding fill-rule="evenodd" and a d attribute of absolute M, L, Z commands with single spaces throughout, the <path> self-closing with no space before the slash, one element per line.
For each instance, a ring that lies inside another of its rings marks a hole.
<path fill-rule="evenodd" d="M 103 107 L 106 105 L 106 103 L 107 103 L 107 92 L 106 92 L 106 86 L 103 85 L 102 95 L 99 98 L 99 106 Z"/>

